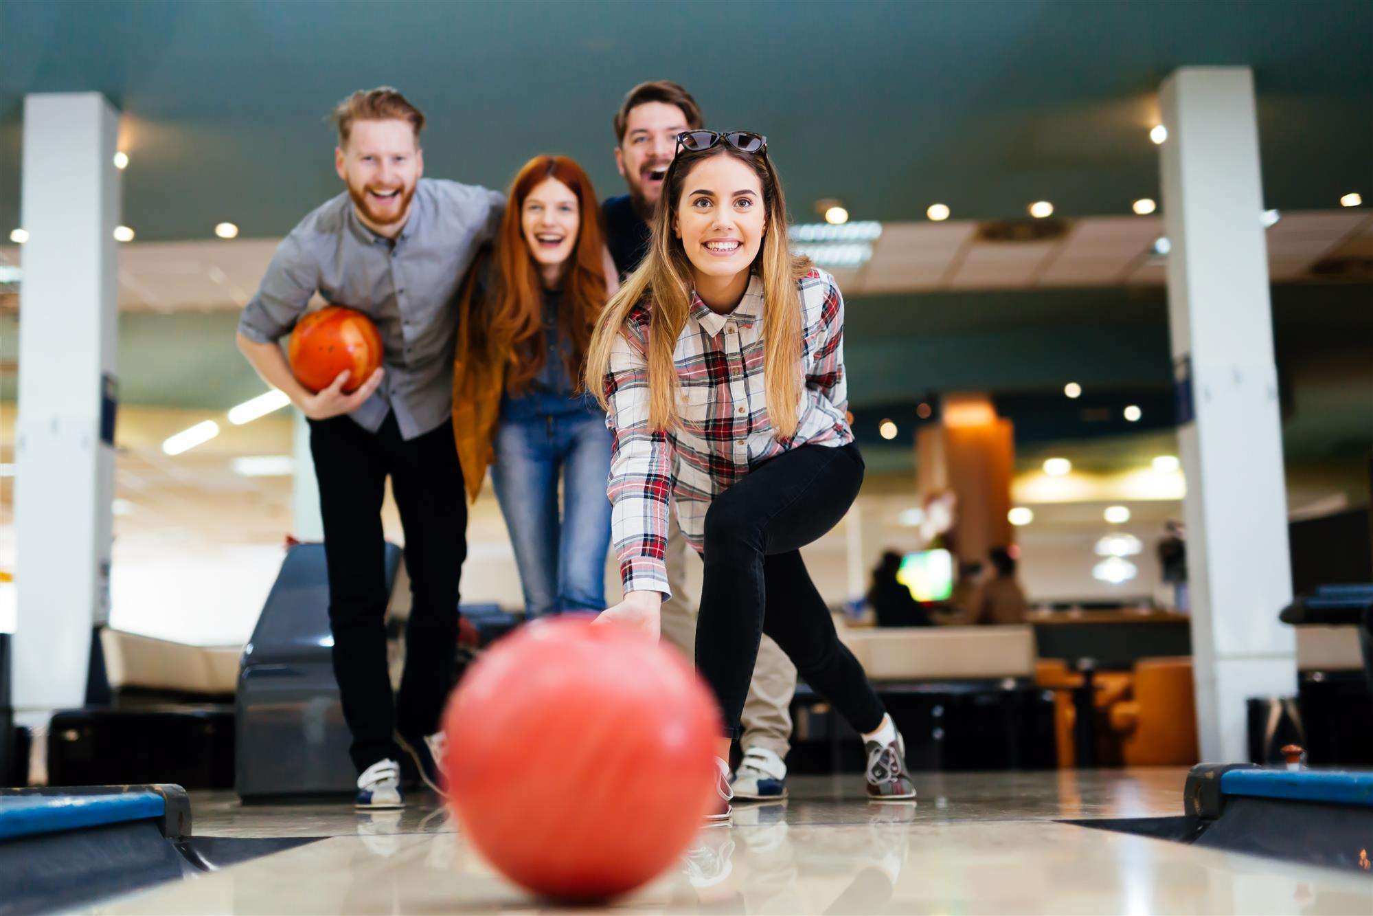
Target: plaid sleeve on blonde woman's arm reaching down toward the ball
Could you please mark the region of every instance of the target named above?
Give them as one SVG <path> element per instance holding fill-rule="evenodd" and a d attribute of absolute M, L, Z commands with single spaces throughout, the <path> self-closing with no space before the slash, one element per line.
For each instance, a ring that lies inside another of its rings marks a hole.
<path fill-rule="evenodd" d="M 615 338 L 605 375 L 612 434 L 610 482 L 611 540 L 619 578 L 629 592 L 662 592 L 667 585 L 667 511 L 671 499 L 671 444 L 648 423 L 648 363 L 643 341 Z"/>

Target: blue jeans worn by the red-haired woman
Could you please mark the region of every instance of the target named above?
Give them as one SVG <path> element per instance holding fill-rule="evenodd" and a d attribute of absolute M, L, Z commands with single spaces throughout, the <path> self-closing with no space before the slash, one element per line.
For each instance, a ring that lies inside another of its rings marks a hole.
<path fill-rule="evenodd" d="M 496 430 L 492 483 L 530 618 L 605 610 L 610 450 L 610 430 L 599 412 L 501 419 Z"/>

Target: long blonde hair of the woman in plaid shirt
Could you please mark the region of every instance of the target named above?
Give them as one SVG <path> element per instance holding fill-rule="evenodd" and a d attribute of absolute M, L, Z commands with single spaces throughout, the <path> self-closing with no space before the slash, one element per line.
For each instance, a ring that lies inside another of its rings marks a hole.
<path fill-rule="evenodd" d="M 644 302 L 651 313 L 648 323 L 648 423 L 654 430 L 671 430 L 677 416 L 677 365 L 673 350 L 686 324 L 691 293 L 695 286 L 691 261 L 673 222 L 682 187 L 692 169 L 717 155 L 730 155 L 747 163 L 762 184 L 766 228 L 752 271 L 763 280 L 763 379 L 768 416 L 773 434 L 788 438 L 796 434 L 796 408 L 800 400 L 800 294 L 796 280 L 810 269 L 810 260 L 794 257 L 787 246 L 787 203 L 781 180 L 766 154 L 739 152 L 726 143 L 702 152 L 682 151 L 663 176 L 663 196 L 654 213 L 652 239 L 643 264 L 605 304 L 596 320 L 596 331 L 586 352 L 586 390 L 601 407 L 610 409 L 605 376 L 615 336 L 623 334 L 630 310 Z"/>

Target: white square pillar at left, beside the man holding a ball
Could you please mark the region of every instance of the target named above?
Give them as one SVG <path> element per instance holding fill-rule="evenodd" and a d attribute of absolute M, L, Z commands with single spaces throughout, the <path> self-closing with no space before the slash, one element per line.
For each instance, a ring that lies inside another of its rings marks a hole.
<path fill-rule="evenodd" d="M 23 104 L 14 705 L 38 721 L 85 702 L 110 612 L 118 119 L 95 92 Z"/>

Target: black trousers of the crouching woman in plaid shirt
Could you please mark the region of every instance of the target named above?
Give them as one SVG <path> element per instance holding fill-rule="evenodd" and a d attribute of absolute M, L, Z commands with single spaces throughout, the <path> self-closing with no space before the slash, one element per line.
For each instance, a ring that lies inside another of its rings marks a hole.
<path fill-rule="evenodd" d="M 886 710 L 858 659 L 839 641 L 800 548 L 843 519 L 862 485 L 855 445 L 803 445 L 751 471 L 706 512 L 696 667 L 715 691 L 725 732 L 739 737 L 762 633 L 859 732 Z"/>

